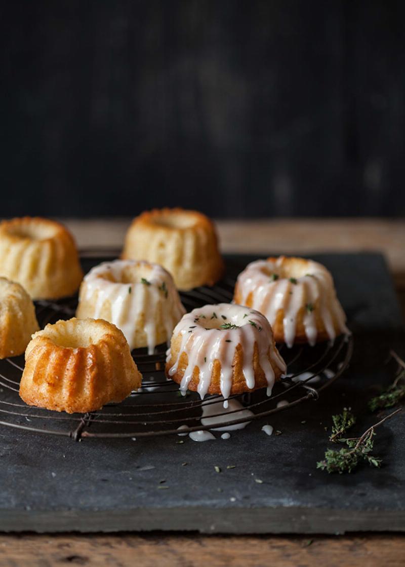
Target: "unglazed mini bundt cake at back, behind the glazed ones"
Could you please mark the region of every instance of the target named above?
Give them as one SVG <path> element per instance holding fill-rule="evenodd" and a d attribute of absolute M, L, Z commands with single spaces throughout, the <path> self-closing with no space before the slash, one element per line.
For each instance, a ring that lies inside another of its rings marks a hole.
<path fill-rule="evenodd" d="M 214 225 L 202 213 L 184 209 L 155 209 L 135 218 L 122 257 L 160 264 L 181 290 L 214 285 L 223 272 Z"/>

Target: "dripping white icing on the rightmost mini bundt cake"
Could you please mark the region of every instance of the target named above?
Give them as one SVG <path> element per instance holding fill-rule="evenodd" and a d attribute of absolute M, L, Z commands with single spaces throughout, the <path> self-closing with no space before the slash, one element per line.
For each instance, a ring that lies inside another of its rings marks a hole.
<path fill-rule="evenodd" d="M 339 331 L 348 333 L 346 316 L 336 298 L 332 276 L 325 266 L 308 260 L 304 273 L 296 274 L 296 283 L 293 283 L 289 277 L 284 277 L 284 260 L 284 256 L 280 256 L 276 260 L 257 260 L 248 264 L 237 279 L 241 303 L 245 304 L 251 294 L 252 307 L 263 313 L 271 325 L 275 323 L 278 311 L 283 309 L 284 341 L 289 347 L 295 340 L 297 315 L 302 306 L 305 308 L 310 305 L 318 310 L 331 340 L 336 336 L 333 318 Z M 278 278 L 273 280 L 272 274 Z M 308 342 L 314 345 L 317 340 L 314 310 L 305 310 L 303 323 Z"/>

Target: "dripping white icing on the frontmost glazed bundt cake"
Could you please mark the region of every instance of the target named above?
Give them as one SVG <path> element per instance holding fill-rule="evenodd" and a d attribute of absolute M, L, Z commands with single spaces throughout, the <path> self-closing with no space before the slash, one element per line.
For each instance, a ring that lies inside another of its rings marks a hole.
<path fill-rule="evenodd" d="M 231 328 L 224 328 L 226 325 Z M 222 328 L 221 328 L 222 327 Z M 232 363 L 238 344 L 242 347 L 242 372 L 248 388 L 254 388 L 255 376 L 253 367 L 254 344 L 257 344 L 259 365 L 265 373 L 268 389 L 274 384 L 273 366 L 285 372 L 285 362 L 278 350 L 273 346 L 273 335 L 268 321 L 261 313 L 233 305 L 219 303 L 194 309 L 184 315 L 173 331 L 173 337 L 181 335 L 181 346 L 178 357 L 168 370 L 168 375 L 177 372 L 181 354 L 185 352 L 188 364 L 180 384 L 180 391 L 186 392 L 193 376 L 194 368 L 199 369 L 198 393 L 201 399 L 208 392 L 214 361 L 218 360 L 220 370 L 220 390 L 224 398 L 228 398 L 232 388 Z M 269 354 L 271 362 L 269 360 Z M 167 362 L 171 360 L 169 351 Z"/>

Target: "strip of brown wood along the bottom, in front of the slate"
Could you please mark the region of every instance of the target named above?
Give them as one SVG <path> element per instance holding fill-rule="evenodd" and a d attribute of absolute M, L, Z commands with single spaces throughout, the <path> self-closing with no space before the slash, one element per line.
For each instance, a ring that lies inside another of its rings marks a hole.
<path fill-rule="evenodd" d="M 402 567 L 405 538 L 394 535 L 224 537 L 199 535 L 2 535 L 3 567 Z"/>

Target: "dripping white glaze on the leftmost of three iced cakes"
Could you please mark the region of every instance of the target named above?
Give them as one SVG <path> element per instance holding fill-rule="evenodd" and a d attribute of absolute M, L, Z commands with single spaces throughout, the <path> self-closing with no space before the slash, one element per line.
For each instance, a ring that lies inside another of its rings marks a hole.
<path fill-rule="evenodd" d="M 137 281 L 123 284 L 122 272 L 128 267 L 146 270 L 147 278 L 144 279 L 149 285 L 142 283 L 141 277 Z M 106 279 L 108 273 L 116 281 Z M 162 306 L 167 341 L 172 336 L 174 325 L 185 312 L 172 276 L 158 264 L 134 260 L 104 262 L 92 268 L 84 277 L 84 282 L 86 283 L 84 301 L 89 301 L 93 294 L 97 293 L 93 317 L 97 319 L 100 316 L 103 304 L 108 300 L 111 305 L 110 322 L 121 329 L 131 349 L 134 348 L 134 333 L 141 314 L 144 318 L 143 330 L 147 336 L 148 353 L 152 354 L 156 346 L 157 307 L 160 304 Z M 165 297 L 166 293 L 167 297 Z"/>

